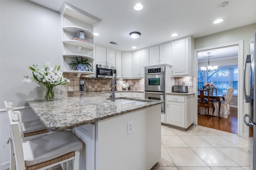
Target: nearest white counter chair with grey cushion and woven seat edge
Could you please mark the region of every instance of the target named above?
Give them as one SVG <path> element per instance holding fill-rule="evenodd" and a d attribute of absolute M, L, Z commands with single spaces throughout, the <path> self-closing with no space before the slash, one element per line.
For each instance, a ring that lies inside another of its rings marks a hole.
<path fill-rule="evenodd" d="M 79 169 L 79 150 L 83 143 L 71 131 L 60 131 L 23 142 L 18 115 L 10 110 L 8 119 L 17 170 L 44 170 L 73 159 L 73 170 Z"/>

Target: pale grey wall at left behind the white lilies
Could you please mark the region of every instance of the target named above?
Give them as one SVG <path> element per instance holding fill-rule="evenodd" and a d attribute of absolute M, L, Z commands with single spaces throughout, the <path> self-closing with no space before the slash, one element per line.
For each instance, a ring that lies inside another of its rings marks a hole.
<path fill-rule="evenodd" d="M 22 111 L 23 120 L 37 118 L 31 109 L 22 108 L 26 100 L 44 98 L 45 87 L 22 80 L 32 76 L 27 68 L 32 64 L 41 68 L 45 61 L 60 64 L 60 14 L 28 0 L 0 0 L 0 17 L 0 169 L 4 170 L 10 160 L 10 145 L 3 148 L 9 137 L 4 100 Z M 60 97 L 60 87 L 54 90 Z"/>

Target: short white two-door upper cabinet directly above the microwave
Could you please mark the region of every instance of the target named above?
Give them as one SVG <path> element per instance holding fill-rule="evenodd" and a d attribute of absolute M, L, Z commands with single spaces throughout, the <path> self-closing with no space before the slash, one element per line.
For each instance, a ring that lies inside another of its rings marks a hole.
<path fill-rule="evenodd" d="M 96 46 L 96 64 L 116 66 L 116 51 Z"/>

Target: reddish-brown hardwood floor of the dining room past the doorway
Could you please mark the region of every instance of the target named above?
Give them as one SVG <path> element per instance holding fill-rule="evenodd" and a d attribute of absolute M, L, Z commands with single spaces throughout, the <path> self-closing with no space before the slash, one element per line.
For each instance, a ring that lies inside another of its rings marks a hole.
<path fill-rule="evenodd" d="M 210 116 L 207 120 L 207 115 L 198 114 L 198 125 L 237 134 L 237 108 L 230 107 L 228 118 Z"/>

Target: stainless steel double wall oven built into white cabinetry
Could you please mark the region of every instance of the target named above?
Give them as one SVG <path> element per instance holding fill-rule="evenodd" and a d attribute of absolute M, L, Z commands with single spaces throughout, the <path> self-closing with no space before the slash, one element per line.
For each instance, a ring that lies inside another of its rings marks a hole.
<path fill-rule="evenodd" d="M 145 98 L 152 100 L 165 99 L 165 66 L 152 66 L 145 68 Z M 164 113 L 165 103 L 161 112 Z"/>

